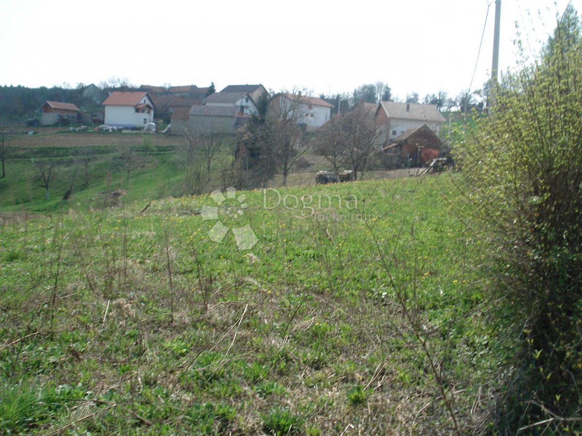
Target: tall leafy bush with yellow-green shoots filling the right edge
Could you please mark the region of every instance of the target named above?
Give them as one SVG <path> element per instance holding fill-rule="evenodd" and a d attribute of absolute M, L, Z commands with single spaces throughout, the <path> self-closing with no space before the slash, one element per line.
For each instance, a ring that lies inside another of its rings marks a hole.
<path fill-rule="evenodd" d="M 582 26 L 572 6 L 459 146 L 475 230 L 519 349 L 495 433 L 566 433 L 582 391 Z M 549 427 L 548 427 L 549 428 Z M 572 428 L 572 427 L 570 427 Z M 579 428 L 579 427 L 578 427 Z"/>

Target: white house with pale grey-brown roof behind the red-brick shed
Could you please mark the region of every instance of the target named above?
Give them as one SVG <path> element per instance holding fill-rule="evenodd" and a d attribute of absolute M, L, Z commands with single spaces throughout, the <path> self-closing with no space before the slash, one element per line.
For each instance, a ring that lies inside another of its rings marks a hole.
<path fill-rule="evenodd" d="M 417 103 L 396 103 L 382 101 L 376 111 L 376 125 L 381 127 L 384 144 L 390 144 L 394 138 L 414 127 L 426 125 L 438 134 L 445 118 L 434 105 Z"/>

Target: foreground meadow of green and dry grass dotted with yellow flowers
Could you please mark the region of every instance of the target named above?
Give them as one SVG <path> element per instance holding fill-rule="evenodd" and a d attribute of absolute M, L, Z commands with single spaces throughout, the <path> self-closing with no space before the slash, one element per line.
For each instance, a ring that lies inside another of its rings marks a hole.
<path fill-rule="evenodd" d="M 487 430 L 513 327 L 450 177 L 2 221 L 0 431 Z"/>

